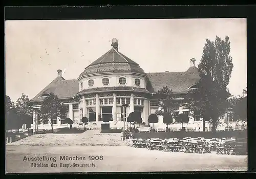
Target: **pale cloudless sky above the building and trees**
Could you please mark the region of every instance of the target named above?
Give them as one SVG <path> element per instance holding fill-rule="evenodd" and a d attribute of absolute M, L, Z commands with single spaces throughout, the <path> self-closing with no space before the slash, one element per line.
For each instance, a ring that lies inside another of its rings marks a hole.
<path fill-rule="evenodd" d="M 246 19 L 120 19 L 9 20 L 5 22 L 6 95 L 16 101 L 22 93 L 32 99 L 62 70 L 76 79 L 90 63 L 111 49 L 147 72 L 186 71 L 190 59 L 199 64 L 206 38 L 229 36 L 233 71 L 232 95 L 247 86 Z"/>

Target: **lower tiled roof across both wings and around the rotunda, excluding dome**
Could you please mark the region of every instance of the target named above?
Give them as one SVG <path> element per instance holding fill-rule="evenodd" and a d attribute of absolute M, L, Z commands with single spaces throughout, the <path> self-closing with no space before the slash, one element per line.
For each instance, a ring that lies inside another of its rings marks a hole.
<path fill-rule="evenodd" d="M 44 100 L 43 94 L 54 93 L 58 98 L 73 98 L 81 93 L 94 93 L 103 91 L 131 91 L 143 93 L 156 93 L 163 86 L 172 89 L 173 92 L 187 92 L 188 87 L 199 81 L 198 69 L 193 66 L 186 72 L 161 72 L 147 73 L 148 83 L 146 89 L 131 86 L 115 86 L 115 87 L 97 87 L 83 89 L 79 92 L 78 82 L 76 79 L 65 80 L 63 77 L 55 78 L 48 86 L 38 93 L 32 102 Z"/>

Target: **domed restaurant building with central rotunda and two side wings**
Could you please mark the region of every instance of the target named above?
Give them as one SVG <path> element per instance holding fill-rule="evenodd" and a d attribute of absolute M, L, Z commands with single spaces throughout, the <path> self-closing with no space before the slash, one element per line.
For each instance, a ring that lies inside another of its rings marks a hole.
<path fill-rule="evenodd" d="M 87 117 L 95 125 L 109 118 L 111 126 L 118 128 L 132 111 L 140 113 L 148 125 L 148 116 L 158 110 L 155 94 L 159 89 L 167 86 L 182 99 L 189 89 L 196 87 L 200 78 L 195 61 L 190 59 L 185 72 L 145 73 L 138 63 L 118 51 L 118 41 L 114 38 L 112 48 L 87 66 L 77 79 L 66 80 L 62 71 L 57 70 L 57 77 L 31 100 L 34 119 L 31 128 L 51 128 L 49 123 L 37 123 L 40 103 L 50 93 L 57 95 L 69 109 L 67 115 L 54 120 L 54 128 L 67 127 L 66 117 L 74 123 Z M 180 111 L 189 114 L 188 109 L 182 108 L 176 113 Z M 195 119 L 190 118 L 191 121 Z"/>

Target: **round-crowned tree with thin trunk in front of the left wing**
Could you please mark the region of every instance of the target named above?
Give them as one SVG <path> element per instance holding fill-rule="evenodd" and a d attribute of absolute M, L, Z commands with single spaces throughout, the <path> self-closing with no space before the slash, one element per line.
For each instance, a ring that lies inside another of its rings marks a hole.
<path fill-rule="evenodd" d="M 53 121 L 57 117 L 65 115 L 67 113 L 67 107 L 61 104 L 58 97 L 53 93 L 50 93 L 44 101 L 41 103 L 39 114 L 43 121 L 49 121 L 53 132 Z"/>

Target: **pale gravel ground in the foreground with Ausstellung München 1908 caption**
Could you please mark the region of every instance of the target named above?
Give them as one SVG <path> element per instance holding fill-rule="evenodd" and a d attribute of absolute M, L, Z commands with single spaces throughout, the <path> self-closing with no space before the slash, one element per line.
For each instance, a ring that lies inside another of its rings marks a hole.
<path fill-rule="evenodd" d="M 60 161 L 60 156 L 81 156 L 86 161 Z M 89 156 L 102 156 L 90 160 Z M 24 157 L 47 156 L 51 161 L 23 161 Z M 31 163 L 48 167 L 31 167 Z M 62 163 L 62 167 L 60 167 Z M 76 165 L 74 165 L 74 164 Z M 52 166 L 57 165 L 57 167 Z M 71 164 L 64 166 L 63 164 Z M 129 146 L 6 146 L 7 173 L 41 172 L 160 172 L 247 170 L 247 155 L 150 151 Z"/>

